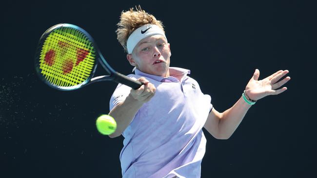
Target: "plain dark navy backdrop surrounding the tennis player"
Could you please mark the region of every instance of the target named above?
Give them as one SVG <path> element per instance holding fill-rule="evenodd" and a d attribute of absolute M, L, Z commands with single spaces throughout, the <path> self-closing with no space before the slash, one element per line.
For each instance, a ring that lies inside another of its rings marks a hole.
<path fill-rule="evenodd" d="M 202 178 L 316 177 L 316 4 L 64 0 L 1 3 L 1 178 L 121 177 L 123 137 L 102 136 L 95 126 L 117 84 L 54 90 L 38 79 L 33 60 L 47 28 L 72 23 L 129 74 L 115 30 L 121 11 L 138 4 L 163 21 L 171 66 L 190 69 L 220 112 L 238 100 L 255 69 L 260 79 L 290 71 L 288 90 L 258 101 L 229 140 L 204 130 Z"/>

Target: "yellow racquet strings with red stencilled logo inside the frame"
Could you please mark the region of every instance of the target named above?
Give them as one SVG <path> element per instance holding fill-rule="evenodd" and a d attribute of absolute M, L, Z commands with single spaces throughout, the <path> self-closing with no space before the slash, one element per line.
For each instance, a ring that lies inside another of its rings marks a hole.
<path fill-rule="evenodd" d="M 95 56 L 93 43 L 85 34 L 71 27 L 61 27 L 44 39 L 39 57 L 40 73 L 54 87 L 74 87 L 93 74 Z"/>

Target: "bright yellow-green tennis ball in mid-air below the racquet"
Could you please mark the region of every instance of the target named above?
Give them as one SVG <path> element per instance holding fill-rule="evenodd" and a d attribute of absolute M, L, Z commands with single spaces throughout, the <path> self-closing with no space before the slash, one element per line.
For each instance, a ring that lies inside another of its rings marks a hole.
<path fill-rule="evenodd" d="M 113 117 L 103 114 L 97 118 L 96 126 L 101 134 L 110 135 L 116 131 L 117 123 Z"/>

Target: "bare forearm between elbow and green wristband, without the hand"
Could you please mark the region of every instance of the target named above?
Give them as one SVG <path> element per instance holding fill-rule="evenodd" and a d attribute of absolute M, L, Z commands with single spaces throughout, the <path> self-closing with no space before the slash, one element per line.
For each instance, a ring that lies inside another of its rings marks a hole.
<path fill-rule="evenodd" d="M 218 122 L 219 137 L 229 138 L 235 132 L 250 107 L 251 106 L 240 97 L 233 107 L 224 111 Z"/>

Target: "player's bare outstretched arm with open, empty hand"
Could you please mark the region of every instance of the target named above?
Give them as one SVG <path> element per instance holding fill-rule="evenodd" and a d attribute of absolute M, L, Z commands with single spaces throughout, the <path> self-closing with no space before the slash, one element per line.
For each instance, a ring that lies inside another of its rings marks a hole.
<path fill-rule="evenodd" d="M 249 99 L 252 100 L 259 100 L 268 95 L 277 95 L 287 89 L 286 87 L 277 89 L 291 79 L 290 77 L 285 77 L 283 80 L 277 82 L 287 73 L 287 70 L 277 71 L 265 79 L 258 81 L 259 71 L 256 70 L 247 84 L 245 92 L 250 97 Z M 237 129 L 250 107 L 251 105 L 247 104 L 240 97 L 233 107 L 222 113 L 213 108 L 208 115 L 204 128 L 217 139 L 228 139 Z"/>

